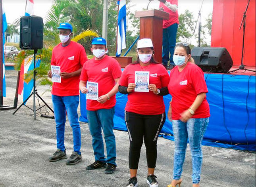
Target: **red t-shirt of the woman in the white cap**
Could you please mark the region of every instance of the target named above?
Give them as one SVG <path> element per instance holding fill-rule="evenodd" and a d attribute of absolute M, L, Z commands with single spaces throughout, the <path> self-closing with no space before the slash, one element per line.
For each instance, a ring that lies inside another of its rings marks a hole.
<path fill-rule="evenodd" d="M 150 72 L 149 84 L 155 84 L 156 88 L 168 86 L 169 74 L 162 64 L 150 64 L 145 71 Z M 142 69 L 143 70 L 143 69 Z M 135 71 L 142 71 L 141 65 L 128 65 L 119 80 L 119 85 L 128 86 L 135 83 Z M 153 92 L 131 92 L 128 94 L 128 102 L 125 111 L 142 115 L 158 115 L 165 112 L 163 96 Z"/>

